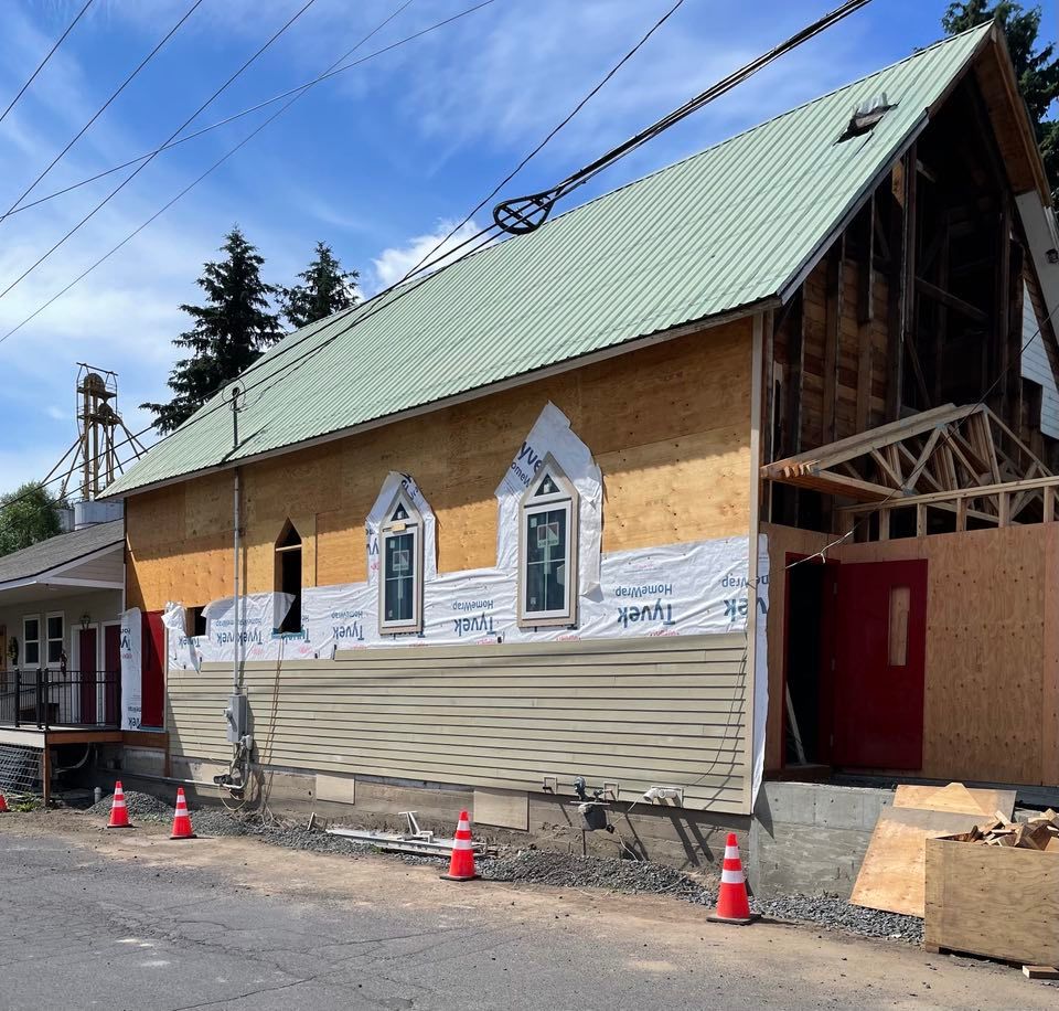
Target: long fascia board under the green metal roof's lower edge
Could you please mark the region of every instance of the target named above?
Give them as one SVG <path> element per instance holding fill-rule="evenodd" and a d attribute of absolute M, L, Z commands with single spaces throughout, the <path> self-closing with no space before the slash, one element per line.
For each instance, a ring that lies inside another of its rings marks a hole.
<path fill-rule="evenodd" d="M 208 473 L 220 473 L 225 470 L 234 470 L 236 467 L 242 467 L 247 464 L 255 464 L 259 460 L 271 459 L 277 456 L 284 456 L 288 453 L 297 453 L 298 450 L 308 449 L 312 446 L 320 446 L 324 443 L 334 443 L 339 439 L 357 435 L 361 432 L 371 432 L 375 428 L 384 428 L 387 425 L 394 425 L 397 422 L 405 421 L 406 418 L 418 417 L 424 414 L 432 414 L 435 411 L 443 411 L 446 407 L 452 407 L 457 404 L 466 404 L 486 396 L 492 396 L 494 393 L 501 393 L 504 390 L 514 390 L 518 386 L 526 386 L 530 383 L 535 383 L 539 380 L 547 379 L 549 375 L 557 375 L 563 372 L 570 372 L 575 369 L 582 369 L 586 365 L 590 365 L 598 361 L 606 361 L 607 359 L 618 358 L 622 354 L 629 354 L 633 351 L 638 351 L 641 348 L 648 348 L 652 344 L 676 340 L 681 337 L 685 337 L 688 333 L 694 333 L 699 330 L 709 330 L 714 327 L 723 326 L 724 323 L 732 322 L 738 319 L 745 319 L 748 316 L 755 316 L 758 312 L 764 312 L 769 309 L 778 309 L 780 306 L 782 306 L 782 301 L 779 297 L 759 299 L 756 302 L 742 306 L 741 308 L 730 312 L 704 317 L 703 319 L 694 320 L 689 323 L 682 323 L 680 327 L 674 327 L 670 330 L 662 330 L 657 333 L 651 333 L 646 337 L 627 341 L 623 344 L 617 344 L 613 348 L 608 348 L 603 351 L 566 359 L 545 369 L 536 369 L 532 372 L 523 373 L 522 375 L 512 376 L 496 383 L 490 383 L 486 386 L 478 386 L 474 390 L 469 390 L 468 392 L 458 394 L 457 396 L 420 404 L 417 407 L 411 407 L 408 411 L 400 412 L 399 414 L 387 415 L 385 417 L 375 418 L 371 422 L 362 422 L 359 425 L 350 425 L 345 428 L 336 428 L 334 432 L 329 432 L 311 439 L 302 439 L 298 443 L 290 443 L 287 446 L 280 446 L 277 449 L 269 449 L 253 456 L 239 457 L 235 460 L 223 460 L 210 467 L 200 467 L 196 470 L 176 473 L 162 480 L 151 481 L 147 485 L 139 485 L 136 488 L 130 488 L 128 491 L 125 491 L 119 496 L 110 496 L 108 492 L 104 491 L 104 493 L 99 496 L 99 500 L 101 501 L 107 498 L 114 498 L 116 500 L 124 501 L 125 499 L 140 494 L 145 491 L 157 491 L 161 488 L 169 488 L 172 485 L 181 485 L 184 481 L 191 480 L 192 478 L 203 477 Z"/>

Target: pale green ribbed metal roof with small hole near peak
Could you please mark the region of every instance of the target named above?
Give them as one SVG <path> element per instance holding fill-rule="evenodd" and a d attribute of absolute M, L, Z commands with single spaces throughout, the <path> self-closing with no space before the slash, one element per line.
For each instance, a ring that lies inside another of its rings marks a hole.
<path fill-rule="evenodd" d="M 211 402 L 108 496 L 775 299 L 991 30 L 935 43 L 469 256 L 410 291 L 288 334 L 244 375 L 236 450 L 229 411 Z M 870 132 L 838 143 L 855 107 L 881 92 L 895 107 Z"/>

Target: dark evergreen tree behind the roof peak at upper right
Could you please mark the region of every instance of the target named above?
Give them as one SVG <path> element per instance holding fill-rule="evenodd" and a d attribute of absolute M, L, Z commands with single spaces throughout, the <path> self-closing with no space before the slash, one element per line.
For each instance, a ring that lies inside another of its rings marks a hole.
<path fill-rule="evenodd" d="M 1059 201 L 1059 120 L 1049 119 L 1048 110 L 1059 98 L 1059 55 L 1055 43 L 1037 47 L 1041 9 L 1027 10 L 1016 0 L 964 0 L 950 3 L 941 26 L 950 34 L 966 31 L 976 24 L 999 21 L 1007 35 L 1007 47 L 1015 64 L 1019 91 L 1026 99 L 1037 129 L 1037 143 L 1045 160 L 1052 199 Z"/>

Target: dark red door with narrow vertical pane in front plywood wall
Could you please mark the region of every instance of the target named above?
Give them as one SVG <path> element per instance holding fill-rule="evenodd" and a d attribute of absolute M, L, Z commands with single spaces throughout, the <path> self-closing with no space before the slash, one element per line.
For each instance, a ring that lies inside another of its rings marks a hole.
<path fill-rule="evenodd" d="M 927 562 L 836 566 L 833 762 L 923 765 Z"/>

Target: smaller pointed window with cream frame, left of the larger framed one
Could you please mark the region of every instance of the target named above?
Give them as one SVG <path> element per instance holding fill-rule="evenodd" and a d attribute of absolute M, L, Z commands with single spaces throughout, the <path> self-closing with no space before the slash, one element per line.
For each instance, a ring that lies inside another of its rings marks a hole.
<path fill-rule="evenodd" d="M 422 631 L 422 515 L 398 489 L 378 531 L 378 630 Z"/>

